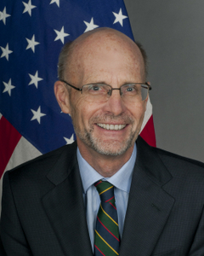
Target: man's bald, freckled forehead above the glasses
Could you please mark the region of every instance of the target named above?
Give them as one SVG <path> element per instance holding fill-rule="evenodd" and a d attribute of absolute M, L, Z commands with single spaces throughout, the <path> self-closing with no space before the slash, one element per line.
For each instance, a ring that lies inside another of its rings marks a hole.
<path fill-rule="evenodd" d="M 144 60 L 138 46 L 127 36 L 122 33 L 99 32 L 77 40 L 69 70 L 74 80 L 120 74 L 123 77 L 125 74 L 127 77 L 143 77 Z"/>

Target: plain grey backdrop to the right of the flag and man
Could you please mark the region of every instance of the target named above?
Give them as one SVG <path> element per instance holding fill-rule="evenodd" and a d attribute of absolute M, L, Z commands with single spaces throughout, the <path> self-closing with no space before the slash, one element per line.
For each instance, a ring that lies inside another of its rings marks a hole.
<path fill-rule="evenodd" d="M 157 147 L 204 161 L 204 1 L 124 2 L 150 61 Z"/>

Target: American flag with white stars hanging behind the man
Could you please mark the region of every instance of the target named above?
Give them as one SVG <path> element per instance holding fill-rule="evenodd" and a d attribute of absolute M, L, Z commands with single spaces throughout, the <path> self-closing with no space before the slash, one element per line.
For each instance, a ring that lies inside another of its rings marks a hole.
<path fill-rule="evenodd" d="M 0 1 L 0 177 L 75 140 L 71 118 L 54 97 L 59 51 L 101 26 L 133 39 L 122 0 Z M 150 101 L 142 129 L 155 146 Z"/>

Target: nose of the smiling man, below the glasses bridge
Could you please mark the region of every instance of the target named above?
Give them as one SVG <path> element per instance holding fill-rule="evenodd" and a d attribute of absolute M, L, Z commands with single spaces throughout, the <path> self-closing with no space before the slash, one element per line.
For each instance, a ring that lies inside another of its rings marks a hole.
<path fill-rule="evenodd" d="M 112 94 L 104 106 L 105 112 L 119 115 L 125 111 L 125 105 L 120 95 L 120 90 L 112 90 Z"/>

